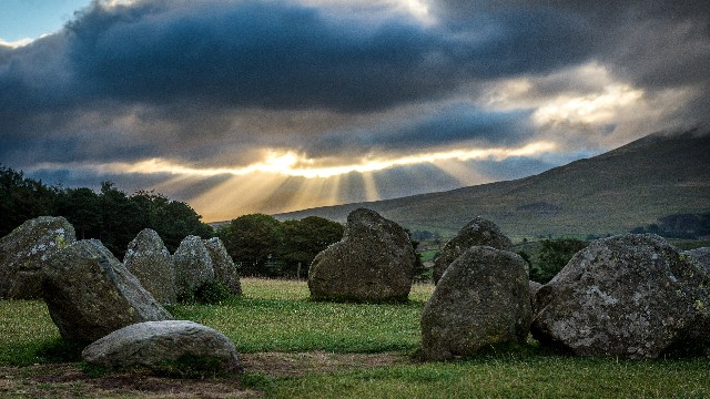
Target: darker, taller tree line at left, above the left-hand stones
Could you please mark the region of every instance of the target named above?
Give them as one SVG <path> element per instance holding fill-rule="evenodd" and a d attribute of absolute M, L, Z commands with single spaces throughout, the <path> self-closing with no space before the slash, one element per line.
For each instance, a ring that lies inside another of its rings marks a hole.
<path fill-rule="evenodd" d="M 91 188 L 48 186 L 22 172 L 0 167 L 0 237 L 38 216 L 63 216 L 77 238 L 98 238 L 119 259 L 143 228 L 154 229 L 171 252 L 187 235 L 212 237 L 212 227 L 190 205 L 162 194 L 139 191 L 126 195 L 113 183 Z"/>

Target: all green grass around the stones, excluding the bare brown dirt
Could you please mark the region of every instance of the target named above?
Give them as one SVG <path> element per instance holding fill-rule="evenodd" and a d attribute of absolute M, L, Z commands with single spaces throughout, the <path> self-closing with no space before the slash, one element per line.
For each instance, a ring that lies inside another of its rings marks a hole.
<path fill-rule="evenodd" d="M 410 355 L 419 346 L 419 317 L 433 290 L 430 285 L 415 286 L 405 305 L 362 305 L 311 301 L 305 282 L 245 278 L 242 285 L 240 299 L 171 310 L 221 330 L 244 354 L 394 350 Z M 52 362 L 61 360 L 67 349 L 45 306 L 38 301 L 0 300 L 0 366 Z M 496 350 L 456 362 L 412 360 L 296 377 L 247 369 L 242 381 L 267 398 L 710 397 L 709 358 L 575 358 L 534 341 Z"/>

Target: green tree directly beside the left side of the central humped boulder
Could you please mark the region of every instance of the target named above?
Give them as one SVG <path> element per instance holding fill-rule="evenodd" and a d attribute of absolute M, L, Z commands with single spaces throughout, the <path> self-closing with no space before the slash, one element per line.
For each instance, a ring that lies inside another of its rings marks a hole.
<path fill-rule="evenodd" d="M 282 223 L 283 243 L 281 259 L 285 273 L 298 278 L 308 275 L 308 267 L 315 256 L 343 237 L 345 228 L 339 223 L 318 216 Z"/>

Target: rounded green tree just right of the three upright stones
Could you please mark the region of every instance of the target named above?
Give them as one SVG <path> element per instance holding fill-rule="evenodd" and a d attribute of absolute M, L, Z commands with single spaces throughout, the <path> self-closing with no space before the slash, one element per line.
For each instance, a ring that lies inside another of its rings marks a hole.
<path fill-rule="evenodd" d="M 281 223 L 264 214 L 243 215 L 217 231 L 241 274 L 270 276 L 266 263 L 278 254 L 283 241 Z"/>

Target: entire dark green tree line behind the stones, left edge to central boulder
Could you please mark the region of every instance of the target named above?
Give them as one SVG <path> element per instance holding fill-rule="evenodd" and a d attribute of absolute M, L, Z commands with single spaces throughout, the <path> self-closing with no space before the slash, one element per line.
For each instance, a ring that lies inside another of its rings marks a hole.
<path fill-rule="evenodd" d="M 0 166 L 0 237 L 45 215 L 65 217 L 78 239 L 101 239 L 119 259 L 143 228 L 154 229 L 171 253 L 187 235 L 219 236 L 241 275 L 264 277 L 305 278 L 313 258 L 344 232 L 341 224 L 323 217 L 278 222 L 263 214 L 240 216 L 215 232 L 190 205 L 162 194 L 128 195 L 111 182 L 103 182 L 99 192 L 48 186 Z"/>

